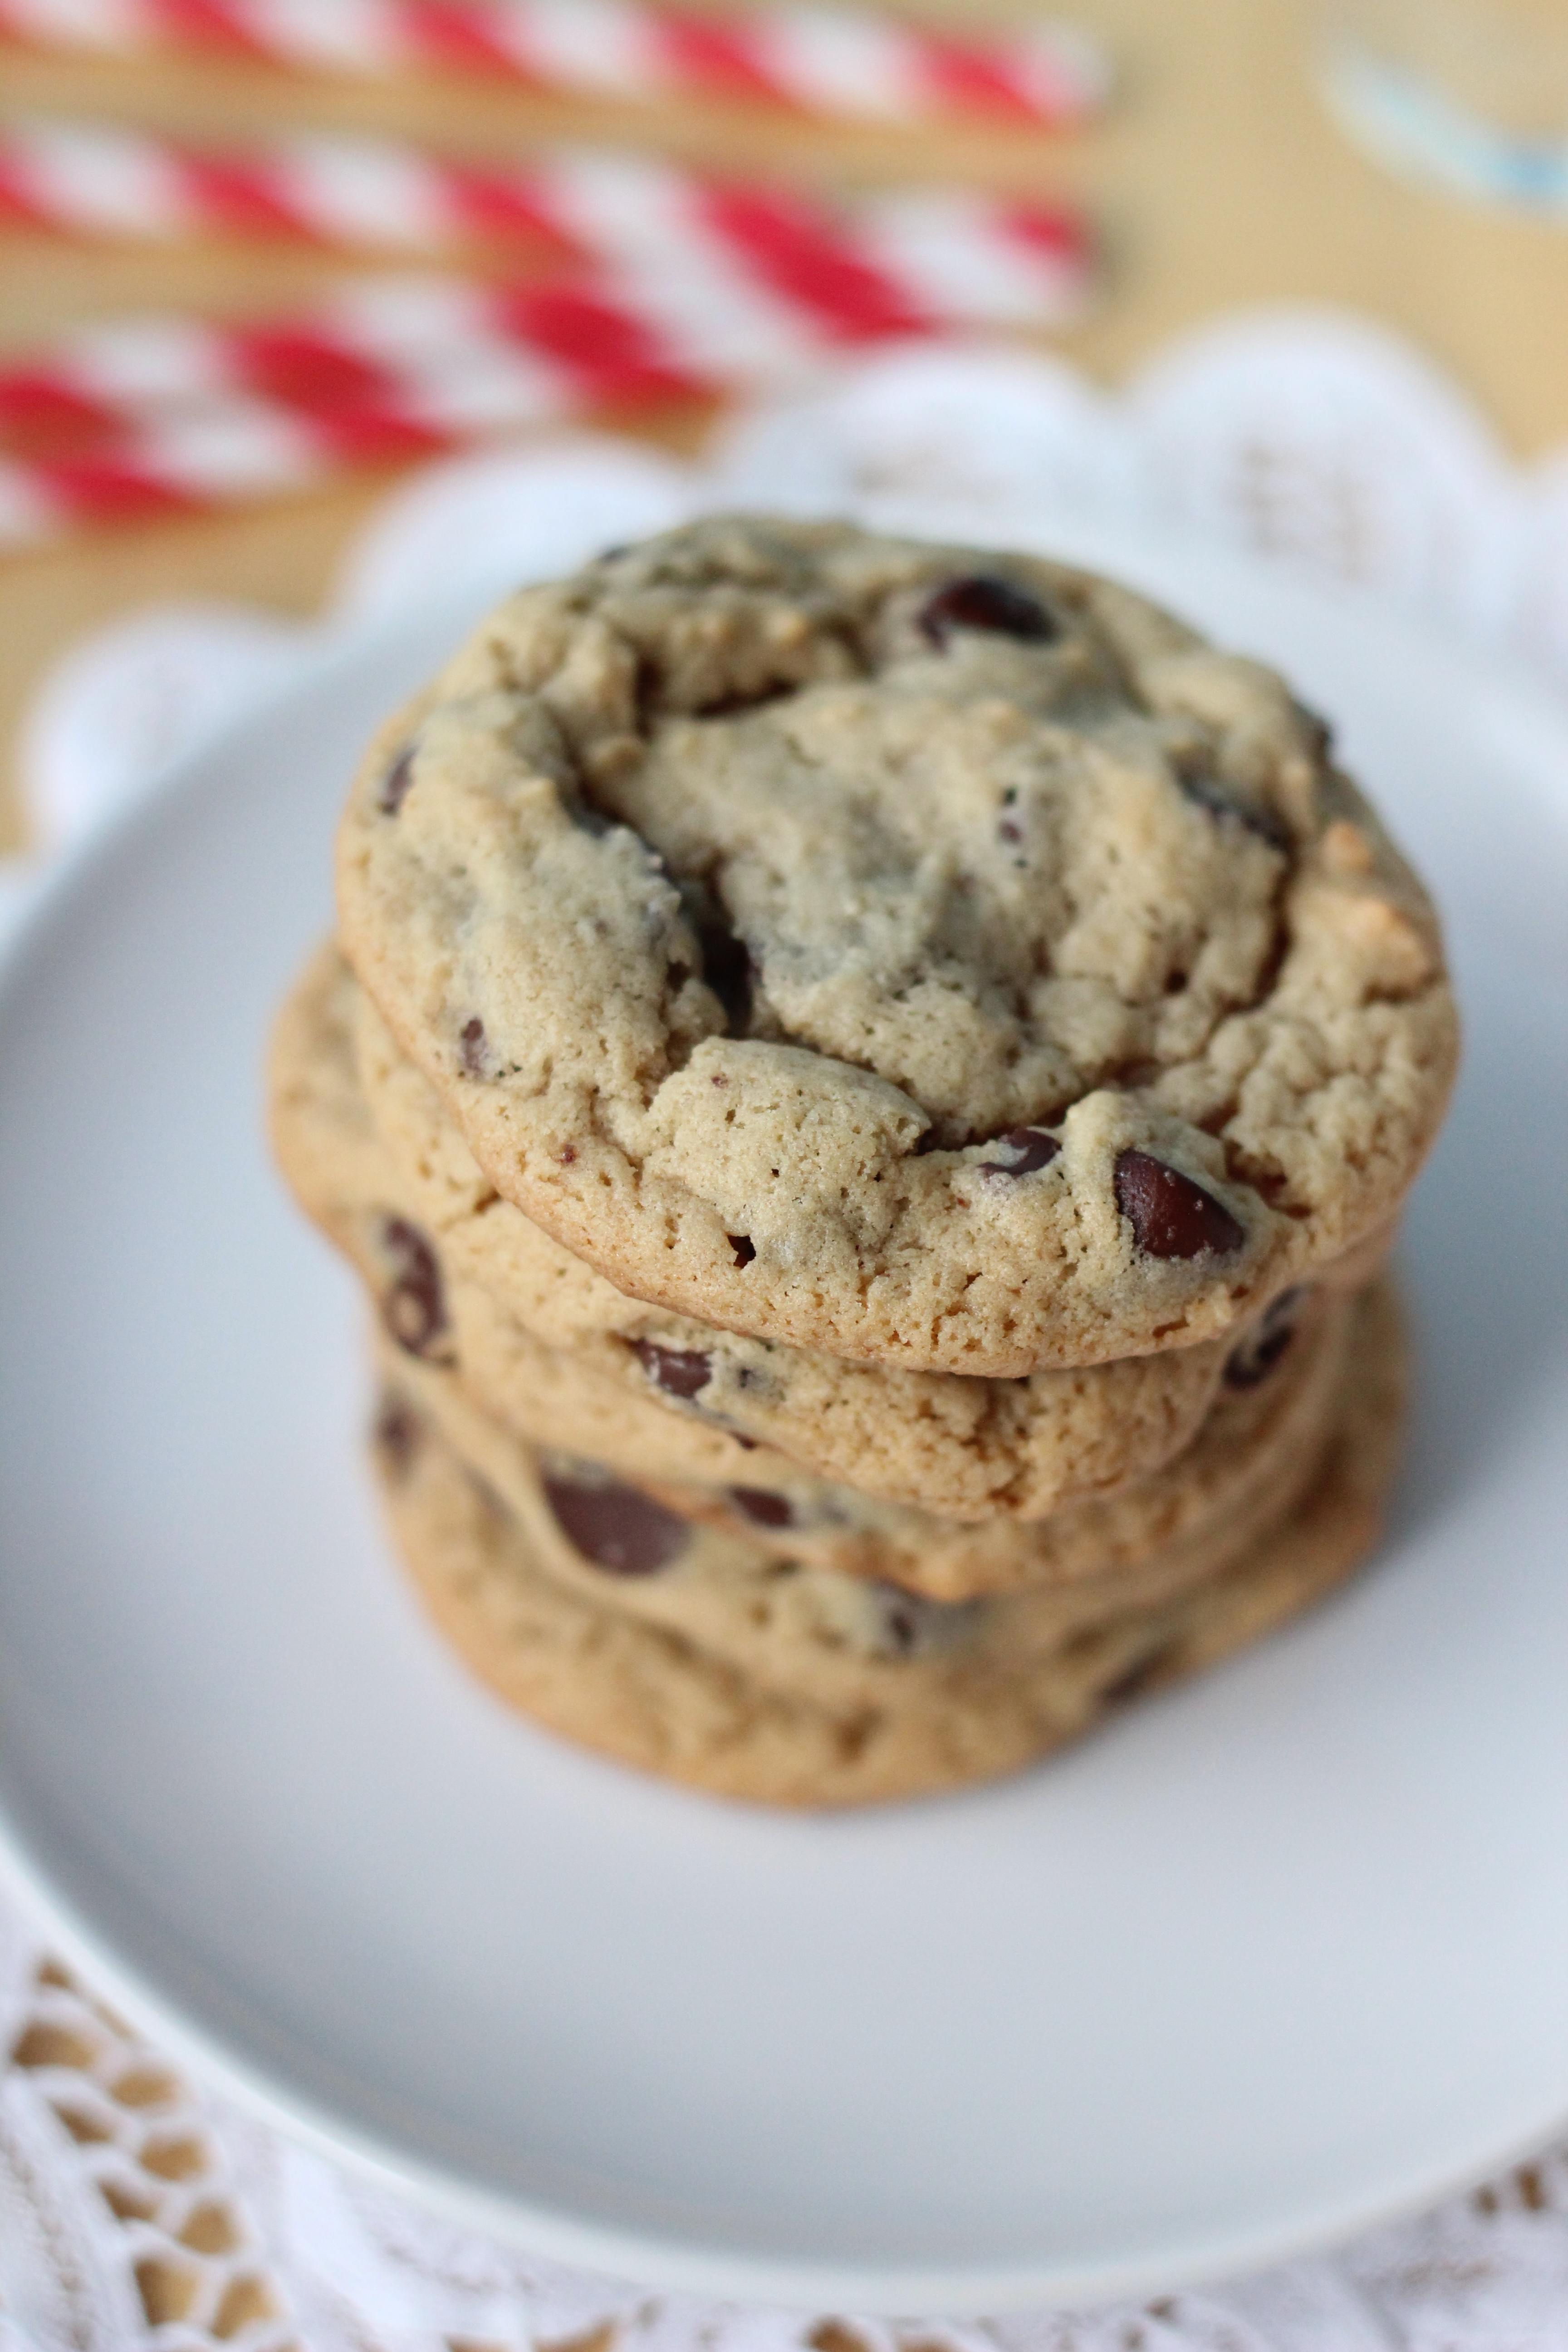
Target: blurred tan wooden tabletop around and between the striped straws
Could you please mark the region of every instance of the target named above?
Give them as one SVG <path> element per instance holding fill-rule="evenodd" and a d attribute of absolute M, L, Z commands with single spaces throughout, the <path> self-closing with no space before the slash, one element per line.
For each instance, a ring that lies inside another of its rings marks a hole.
<path fill-rule="evenodd" d="M 1352 306 L 1406 332 L 1472 393 L 1505 442 L 1568 442 L 1568 233 L 1385 179 L 1333 129 L 1312 87 L 1309 24 L 1291 0 L 1063 0 L 1119 66 L 1105 120 L 1072 139 L 1011 129 L 898 132 L 682 106 L 656 118 L 480 82 L 310 82 L 261 66 L 113 66 L 0 52 L 0 106 L 129 118 L 200 134 L 280 122 L 416 134 L 498 153 L 562 136 L 649 141 L 715 165 L 837 183 L 961 176 L 1079 193 L 1107 247 L 1095 313 L 1063 348 L 1107 381 L 1215 313 L 1267 301 Z M 954 14 L 954 7 L 947 9 Z M 980 16 L 976 0 L 957 7 Z M 990 9 L 987 14 L 1006 14 Z M 0 343 L 141 306 L 212 313 L 284 303 L 327 259 L 202 242 L 179 249 L 0 238 Z M 705 419 L 644 430 L 677 447 Z M 383 482 L 216 517 L 103 532 L 0 560 L 0 743 L 42 668 L 92 623 L 165 597 L 310 612 Z M 16 840 L 0 781 L 0 844 Z"/>

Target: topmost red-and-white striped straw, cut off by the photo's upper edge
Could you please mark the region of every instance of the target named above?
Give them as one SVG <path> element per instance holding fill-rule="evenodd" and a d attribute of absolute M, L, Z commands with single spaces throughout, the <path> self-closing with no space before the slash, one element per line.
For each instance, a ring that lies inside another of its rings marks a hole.
<path fill-rule="evenodd" d="M 1110 78 L 1074 26 L 936 31 L 811 5 L 710 16 L 646 0 L 0 0 L 0 35 L 113 56 L 216 49 L 296 73 L 435 66 L 625 103 L 741 99 L 896 125 L 1067 125 Z"/>

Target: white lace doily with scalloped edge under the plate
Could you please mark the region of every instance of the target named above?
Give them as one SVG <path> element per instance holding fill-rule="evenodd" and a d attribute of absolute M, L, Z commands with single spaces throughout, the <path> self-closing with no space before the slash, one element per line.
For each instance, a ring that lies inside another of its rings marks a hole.
<path fill-rule="evenodd" d="M 1159 522 L 1509 644 L 1568 684 L 1568 452 L 1514 468 L 1415 353 L 1333 315 L 1251 315 L 1124 393 L 1018 355 L 907 350 L 741 419 L 701 473 L 618 442 L 404 485 L 327 630 L 433 588 L 475 609 L 712 503 L 870 508 L 1006 541 Z M 61 849 L 282 677 L 320 630 L 165 609 L 78 647 L 24 746 Z M 5 898 L 38 861 L 0 866 Z M 1568 1957 L 1566 1957 L 1568 1964 Z M 1568 2145 L 1422 2220 L 1208 2293 L 889 2326 L 710 2307 L 531 2263 L 202 2096 L 0 1905 L 0 2352 L 1568 2352 Z"/>

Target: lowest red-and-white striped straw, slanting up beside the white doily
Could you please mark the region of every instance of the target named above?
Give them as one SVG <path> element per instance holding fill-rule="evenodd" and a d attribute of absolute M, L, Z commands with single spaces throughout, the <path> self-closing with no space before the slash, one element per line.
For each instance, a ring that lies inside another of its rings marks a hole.
<path fill-rule="evenodd" d="M 527 428 L 715 400 L 818 358 L 811 320 L 595 280 L 348 282 L 263 325 L 122 320 L 0 369 L 0 548 L 306 489 Z"/>

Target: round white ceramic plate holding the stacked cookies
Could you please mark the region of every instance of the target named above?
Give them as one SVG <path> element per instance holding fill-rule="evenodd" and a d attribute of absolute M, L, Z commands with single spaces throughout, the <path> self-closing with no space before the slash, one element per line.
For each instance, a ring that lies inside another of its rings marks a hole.
<path fill-rule="evenodd" d="M 0 988 L 0 1811 L 56 1931 L 296 2131 L 543 2253 L 806 2307 L 1262 2263 L 1568 2117 L 1568 722 L 1265 572 L 1453 922 L 1385 1555 L 1006 1788 L 769 1818 L 482 1696 L 390 1566 L 348 1277 L 259 1065 L 367 727 L 327 656 L 78 858 Z"/>

